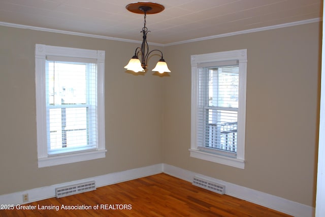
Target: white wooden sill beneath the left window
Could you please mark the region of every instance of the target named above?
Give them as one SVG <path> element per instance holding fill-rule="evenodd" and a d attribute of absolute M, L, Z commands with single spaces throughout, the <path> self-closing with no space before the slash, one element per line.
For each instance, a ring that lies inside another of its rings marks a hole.
<path fill-rule="evenodd" d="M 61 154 L 58 156 L 47 158 L 39 158 L 39 168 L 105 158 L 105 152 L 106 150 L 94 150 L 70 154 Z"/>

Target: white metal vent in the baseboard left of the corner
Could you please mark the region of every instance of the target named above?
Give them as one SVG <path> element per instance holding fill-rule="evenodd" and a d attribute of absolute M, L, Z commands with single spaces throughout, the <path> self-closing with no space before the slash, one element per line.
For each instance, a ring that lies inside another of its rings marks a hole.
<path fill-rule="evenodd" d="M 66 187 L 56 188 L 55 196 L 57 198 L 66 197 L 69 195 L 79 194 L 83 192 L 89 192 L 96 190 L 95 181 L 89 181 L 85 183 L 74 184 Z"/>

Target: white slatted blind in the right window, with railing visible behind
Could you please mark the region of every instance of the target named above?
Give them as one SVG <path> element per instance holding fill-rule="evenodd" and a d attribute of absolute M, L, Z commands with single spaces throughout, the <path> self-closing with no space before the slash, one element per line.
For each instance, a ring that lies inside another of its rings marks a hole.
<path fill-rule="evenodd" d="M 236 61 L 209 63 L 202 66 L 198 69 L 197 142 L 199 148 L 222 151 L 224 154 L 236 156 L 239 66 Z"/>

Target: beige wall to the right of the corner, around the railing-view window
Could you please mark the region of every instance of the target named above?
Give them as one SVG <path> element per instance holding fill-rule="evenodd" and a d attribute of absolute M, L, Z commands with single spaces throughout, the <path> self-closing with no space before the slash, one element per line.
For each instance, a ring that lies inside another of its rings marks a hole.
<path fill-rule="evenodd" d="M 174 45 L 165 85 L 164 163 L 315 206 L 319 23 Z M 190 55 L 247 49 L 245 169 L 189 157 Z"/>

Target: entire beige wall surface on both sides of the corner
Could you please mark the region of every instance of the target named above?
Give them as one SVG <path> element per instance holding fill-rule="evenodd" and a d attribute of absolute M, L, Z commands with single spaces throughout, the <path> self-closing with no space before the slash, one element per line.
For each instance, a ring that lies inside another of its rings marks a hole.
<path fill-rule="evenodd" d="M 167 163 L 314 206 L 319 26 L 165 47 L 172 70 L 165 78 L 125 73 L 137 44 L 0 26 L 0 195 Z M 106 51 L 105 159 L 38 168 L 36 43 Z M 188 151 L 190 55 L 235 49 L 248 56 L 244 170 L 190 158 Z"/>

